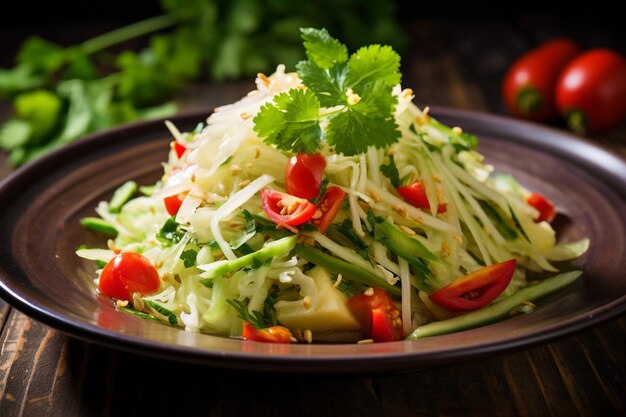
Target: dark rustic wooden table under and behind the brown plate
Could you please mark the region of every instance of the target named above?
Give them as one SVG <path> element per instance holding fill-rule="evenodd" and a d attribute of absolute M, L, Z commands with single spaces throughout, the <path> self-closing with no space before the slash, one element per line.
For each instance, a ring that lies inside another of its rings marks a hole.
<path fill-rule="evenodd" d="M 586 47 L 626 53 L 619 25 L 586 17 L 459 17 L 419 20 L 411 28 L 403 84 L 414 89 L 417 101 L 500 114 L 506 114 L 499 88 L 507 65 L 542 40 L 568 35 Z M 198 86 L 180 102 L 186 109 L 208 109 L 251 87 L 251 81 Z M 0 120 L 5 116 L 6 110 Z M 593 139 L 626 156 L 626 128 Z M 0 174 L 8 172 L 0 162 Z M 624 315 L 523 351 L 358 378 L 156 360 L 68 337 L 2 300 L 0 323 L 1 416 L 626 415 Z"/>

